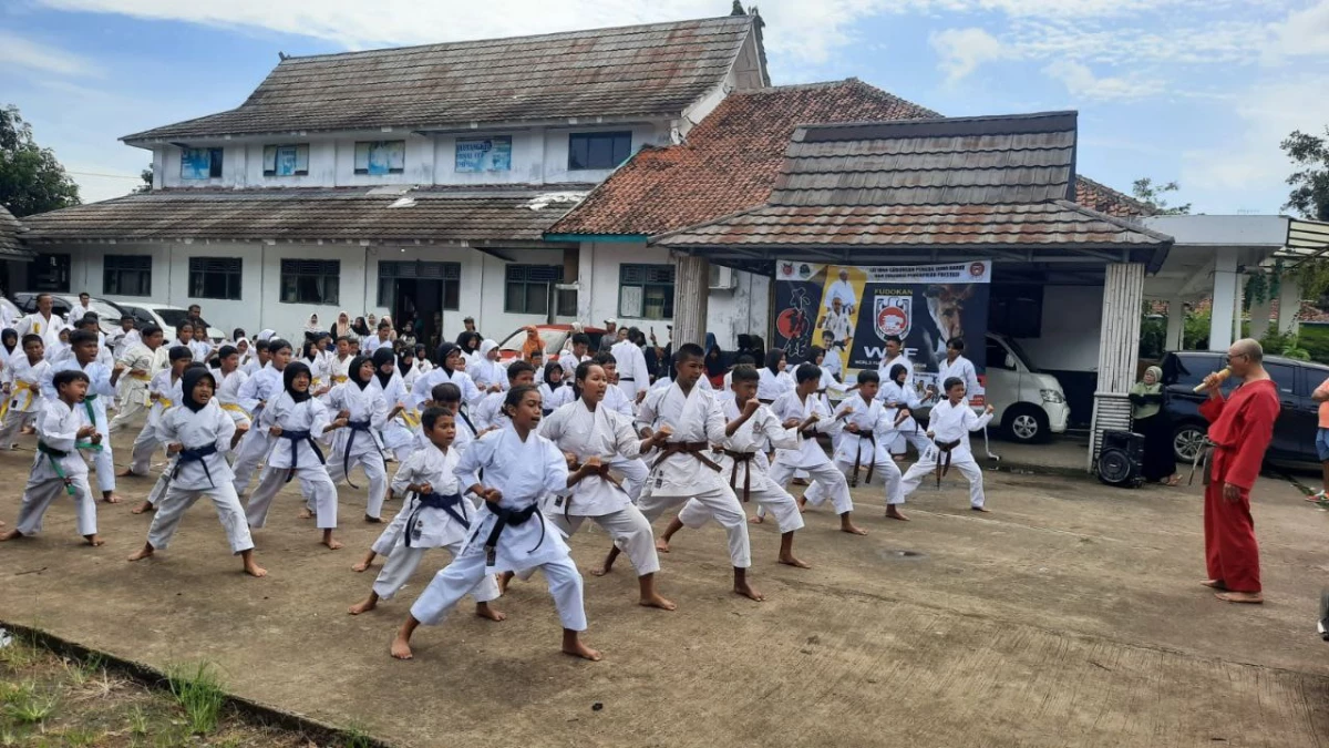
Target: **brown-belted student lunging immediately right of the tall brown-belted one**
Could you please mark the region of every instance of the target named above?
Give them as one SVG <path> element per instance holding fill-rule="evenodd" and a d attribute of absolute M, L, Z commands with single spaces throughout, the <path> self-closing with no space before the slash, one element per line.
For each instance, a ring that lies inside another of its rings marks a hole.
<path fill-rule="evenodd" d="M 809 568 L 809 564 L 793 555 L 793 532 L 803 527 L 803 512 L 799 511 L 793 496 L 769 479 L 766 453 L 762 451 L 767 445 L 788 450 L 796 449 L 799 446 L 797 434 L 785 429 L 780 419 L 771 413 L 771 409 L 756 399 L 756 387 L 760 381 L 756 369 L 738 366 L 732 374 L 730 387 L 734 397 L 720 401 L 724 419 L 728 423 L 724 426 L 724 439 L 719 442 L 723 451 L 716 455 L 715 462 L 720 466 L 720 475 L 728 475 L 730 488 L 742 496 L 744 503 L 756 500 L 759 507 L 768 507 L 775 514 L 775 523 L 780 530 L 780 563 Z M 683 504 L 683 510 L 661 535 L 661 542 L 666 548 L 674 534 L 687 526 L 694 512 L 698 511 L 704 511 L 699 502 L 688 500 Z M 692 526 L 702 522 L 704 518 L 694 522 Z"/>

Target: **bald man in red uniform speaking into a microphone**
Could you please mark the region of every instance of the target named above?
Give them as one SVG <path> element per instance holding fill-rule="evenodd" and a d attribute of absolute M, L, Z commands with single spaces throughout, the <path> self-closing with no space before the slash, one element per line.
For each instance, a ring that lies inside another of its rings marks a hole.
<path fill-rule="evenodd" d="M 1219 389 L 1223 377 L 1209 374 L 1204 378 L 1209 399 L 1200 406 L 1215 445 L 1204 487 L 1204 559 L 1209 570 L 1204 586 L 1217 590 L 1217 598 L 1228 603 L 1263 603 L 1251 487 L 1273 438 L 1278 389 L 1264 370 L 1264 349 L 1253 339 L 1232 343 L 1228 369 L 1241 385 L 1224 398 Z"/>

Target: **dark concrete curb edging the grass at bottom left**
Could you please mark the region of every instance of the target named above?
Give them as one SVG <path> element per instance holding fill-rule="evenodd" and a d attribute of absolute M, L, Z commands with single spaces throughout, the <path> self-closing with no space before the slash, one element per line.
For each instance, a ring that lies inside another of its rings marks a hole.
<path fill-rule="evenodd" d="M 80 663 L 96 657 L 98 663 L 109 671 L 133 680 L 148 688 L 161 691 L 167 687 L 166 673 L 158 671 L 157 668 L 136 661 L 118 657 L 116 655 L 102 652 L 100 650 L 93 650 L 90 647 L 84 647 L 77 642 L 70 642 L 41 631 L 40 628 L 33 628 L 31 626 L 23 626 L 0 619 L 0 627 L 5 628 L 16 638 L 23 638 L 35 646 L 51 650 L 52 652 L 77 660 Z M 246 720 L 259 721 L 266 725 L 278 727 L 290 732 L 299 732 L 303 736 L 315 740 L 320 744 L 328 745 L 344 745 L 352 737 L 352 733 L 344 728 L 335 727 L 319 720 L 296 715 L 292 712 L 286 712 L 267 704 L 260 704 L 242 696 L 234 696 L 231 693 L 226 695 L 226 707 L 235 709 Z M 369 745 L 372 748 L 392 748 L 391 744 L 377 740 L 369 736 L 359 736 L 361 745 Z"/>

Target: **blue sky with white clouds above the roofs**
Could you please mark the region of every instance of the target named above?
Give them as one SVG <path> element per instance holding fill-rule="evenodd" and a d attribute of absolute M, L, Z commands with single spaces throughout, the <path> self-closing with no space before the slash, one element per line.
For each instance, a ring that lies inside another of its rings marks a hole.
<path fill-rule="evenodd" d="M 730 0 L 3 0 L 0 105 L 85 201 L 121 136 L 230 109 L 278 53 L 727 15 Z M 1329 126 L 1329 0 L 764 0 L 776 85 L 857 77 L 948 116 L 1079 112 L 1078 172 L 1176 181 L 1197 213 L 1280 213 L 1278 142 Z"/>

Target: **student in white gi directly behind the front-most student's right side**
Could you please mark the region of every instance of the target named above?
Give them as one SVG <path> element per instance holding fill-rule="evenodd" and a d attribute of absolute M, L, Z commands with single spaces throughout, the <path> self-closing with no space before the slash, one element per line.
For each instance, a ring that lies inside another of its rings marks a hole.
<path fill-rule="evenodd" d="M 627 491 L 609 475 L 615 458 L 634 459 L 643 449 L 664 443 L 657 434 L 642 439 L 633 421 L 605 407 L 609 381 L 605 370 L 586 361 L 573 373 L 573 389 L 578 399 L 556 410 L 540 425 L 540 434 L 558 446 L 575 467 L 567 487 L 545 500 L 545 516 L 563 536 L 571 538 L 585 519 L 591 519 L 614 540 L 615 547 L 627 552 L 637 568 L 638 604 L 671 611 L 674 603 L 655 591 L 655 572 L 661 568 L 651 523 L 633 506 Z M 666 434 L 667 437 L 667 434 Z M 602 568 L 591 570 L 601 576 L 611 568 L 613 559 Z"/>

